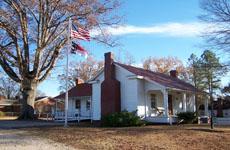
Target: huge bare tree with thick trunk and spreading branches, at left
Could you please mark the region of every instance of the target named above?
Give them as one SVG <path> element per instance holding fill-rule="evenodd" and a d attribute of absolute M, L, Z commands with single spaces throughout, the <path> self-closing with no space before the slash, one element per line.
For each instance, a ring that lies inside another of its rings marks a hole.
<path fill-rule="evenodd" d="M 69 18 L 79 27 L 100 31 L 119 23 L 113 13 L 118 6 L 117 0 L 0 1 L 0 66 L 21 85 L 19 118 L 33 118 L 37 86 L 49 76 L 67 44 Z M 105 34 L 93 39 L 109 42 Z"/>

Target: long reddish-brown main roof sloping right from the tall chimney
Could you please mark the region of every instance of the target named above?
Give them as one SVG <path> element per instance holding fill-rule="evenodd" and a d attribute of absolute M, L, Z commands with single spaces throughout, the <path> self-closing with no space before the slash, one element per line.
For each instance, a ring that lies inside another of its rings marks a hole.
<path fill-rule="evenodd" d="M 175 88 L 175 89 L 180 89 L 180 90 L 185 90 L 185 91 L 190 91 L 190 92 L 196 91 L 196 88 L 193 85 L 191 85 L 187 82 L 184 82 L 178 78 L 171 77 L 171 76 L 163 74 L 163 73 L 153 72 L 153 71 L 146 70 L 143 68 L 137 68 L 137 67 L 117 63 L 117 62 L 115 62 L 115 64 L 117 64 L 117 65 L 123 67 L 124 69 L 134 73 L 135 75 L 146 77 L 149 80 L 157 82 L 160 85 L 163 85 L 165 87 Z"/>

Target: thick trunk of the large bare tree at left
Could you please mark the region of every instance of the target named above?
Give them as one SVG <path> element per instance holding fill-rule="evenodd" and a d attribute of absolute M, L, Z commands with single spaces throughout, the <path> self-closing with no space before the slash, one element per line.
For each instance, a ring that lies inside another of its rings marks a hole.
<path fill-rule="evenodd" d="M 36 97 L 37 82 L 34 80 L 25 80 L 22 86 L 21 114 L 18 117 L 20 120 L 35 119 L 34 101 Z"/>

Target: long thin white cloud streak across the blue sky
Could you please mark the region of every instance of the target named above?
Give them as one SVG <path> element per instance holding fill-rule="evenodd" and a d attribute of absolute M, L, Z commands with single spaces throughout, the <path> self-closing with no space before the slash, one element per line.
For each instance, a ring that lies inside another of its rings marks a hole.
<path fill-rule="evenodd" d="M 192 23 L 165 23 L 153 26 L 113 26 L 107 27 L 104 30 L 112 35 L 127 35 L 127 34 L 160 34 L 164 36 L 176 37 L 194 37 L 199 36 L 201 32 L 209 28 L 209 24 L 192 22 Z M 92 31 L 93 35 L 98 35 L 98 30 Z"/>

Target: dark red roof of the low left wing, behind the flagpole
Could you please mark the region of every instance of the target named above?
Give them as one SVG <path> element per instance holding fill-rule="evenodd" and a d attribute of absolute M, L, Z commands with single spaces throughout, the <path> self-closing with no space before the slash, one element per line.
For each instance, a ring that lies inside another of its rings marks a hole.
<path fill-rule="evenodd" d="M 69 97 L 92 96 L 92 85 L 88 83 L 78 84 L 68 91 L 68 95 Z M 65 98 L 65 93 L 62 93 L 54 97 L 54 99 L 64 99 L 64 98 Z"/>

